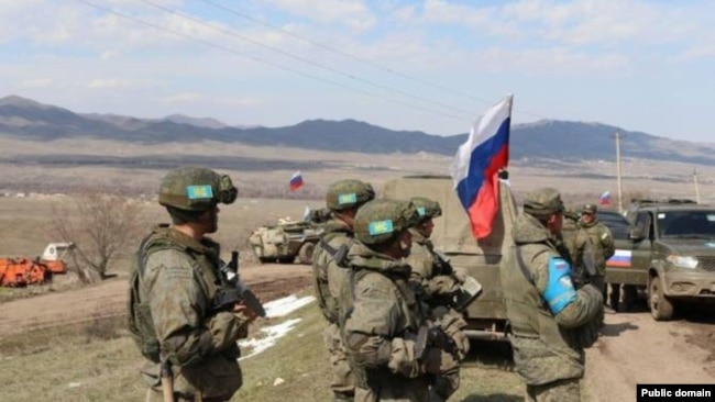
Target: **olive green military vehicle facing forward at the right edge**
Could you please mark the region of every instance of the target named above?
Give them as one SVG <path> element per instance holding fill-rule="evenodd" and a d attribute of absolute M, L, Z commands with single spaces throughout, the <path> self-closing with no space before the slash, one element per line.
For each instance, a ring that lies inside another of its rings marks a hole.
<path fill-rule="evenodd" d="M 672 319 L 685 302 L 715 302 L 715 208 L 635 200 L 627 214 L 634 245 L 623 263 L 646 289 L 653 319 Z"/>

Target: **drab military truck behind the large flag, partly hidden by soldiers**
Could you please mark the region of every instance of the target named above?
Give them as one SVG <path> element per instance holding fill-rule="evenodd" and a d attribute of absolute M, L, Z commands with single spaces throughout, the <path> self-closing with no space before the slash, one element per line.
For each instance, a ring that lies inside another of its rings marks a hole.
<path fill-rule="evenodd" d="M 512 222 L 517 206 L 505 182 L 499 183 L 499 212 L 492 234 L 476 241 L 470 221 L 448 176 L 409 176 L 393 179 L 383 186 L 381 198 L 408 199 L 428 197 L 442 206 L 442 216 L 435 220 L 432 242 L 454 267 L 462 267 L 481 282 L 482 294 L 465 311 L 466 334 L 473 338 L 505 339 L 508 332 L 506 306 L 502 292 L 499 263 L 504 247 L 512 244 Z"/>

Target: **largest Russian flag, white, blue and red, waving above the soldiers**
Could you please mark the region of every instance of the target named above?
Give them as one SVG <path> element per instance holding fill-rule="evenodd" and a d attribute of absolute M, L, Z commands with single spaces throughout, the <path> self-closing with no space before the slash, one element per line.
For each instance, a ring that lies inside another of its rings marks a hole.
<path fill-rule="evenodd" d="M 513 98 L 507 96 L 474 122 L 450 168 L 457 196 L 470 216 L 472 234 L 476 238 L 492 233 L 498 211 L 497 174 L 509 161 Z"/>

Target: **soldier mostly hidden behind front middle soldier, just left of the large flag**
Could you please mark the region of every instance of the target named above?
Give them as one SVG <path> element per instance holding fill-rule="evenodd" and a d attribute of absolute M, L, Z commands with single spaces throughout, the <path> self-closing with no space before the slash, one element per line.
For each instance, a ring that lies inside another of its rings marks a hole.
<path fill-rule="evenodd" d="M 462 332 L 466 321 L 452 305 L 466 272 L 452 268 L 449 261 L 435 250 L 430 241 L 435 228 L 432 220 L 442 215 L 439 202 L 425 197 L 413 197 L 410 201 L 419 214 L 418 224 L 409 228 L 413 247 L 406 261 L 411 268 L 410 282 L 415 286 L 418 297 L 425 300 L 432 311 L 431 320 L 448 328 L 448 332 L 451 332 L 449 335 L 460 339 L 458 350 L 461 360 L 470 348 L 469 338 Z M 430 388 L 433 395 L 430 401 L 447 400 L 457 391 L 459 383 L 459 370 L 446 378 L 433 378 Z"/>

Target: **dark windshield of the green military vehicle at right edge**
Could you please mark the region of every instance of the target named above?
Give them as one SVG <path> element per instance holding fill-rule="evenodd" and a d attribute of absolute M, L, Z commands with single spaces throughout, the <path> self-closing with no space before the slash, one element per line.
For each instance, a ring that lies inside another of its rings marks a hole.
<path fill-rule="evenodd" d="M 715 210 L 659 212 L 660 237 L 715 238 Z"/>

